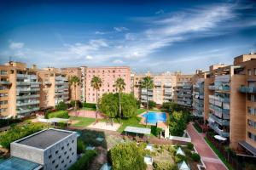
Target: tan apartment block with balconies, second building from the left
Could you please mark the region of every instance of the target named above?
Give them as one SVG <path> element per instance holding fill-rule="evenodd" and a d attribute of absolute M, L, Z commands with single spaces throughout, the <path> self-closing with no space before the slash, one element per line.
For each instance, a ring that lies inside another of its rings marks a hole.
<path fill-rule="evenodd" d="M 60 69 L 44 68 L 37 71 L 40 87 L 40 107 L 55 107 L 61 101 L 67 102 L 69 99 L 69 87 L 67 75 Z"/>

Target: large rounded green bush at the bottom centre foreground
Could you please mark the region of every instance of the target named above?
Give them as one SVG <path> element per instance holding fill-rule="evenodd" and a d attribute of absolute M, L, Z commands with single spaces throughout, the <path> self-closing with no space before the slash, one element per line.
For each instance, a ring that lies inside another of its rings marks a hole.
<path fill-rule="evenodd" d="M 117 144 L 110 151 L 113 170 L 144 170 L 144 149 L 136 143 Z"/>

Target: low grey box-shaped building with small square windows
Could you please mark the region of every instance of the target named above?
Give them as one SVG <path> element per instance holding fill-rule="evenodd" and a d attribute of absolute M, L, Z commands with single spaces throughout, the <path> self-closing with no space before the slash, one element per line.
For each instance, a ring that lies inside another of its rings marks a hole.
<path fill-rule="evenodd" d="M 44 170 L 65 170 L 77 161 L 77 133 L 49 128 L 11 143 L 10 150 Z"/>

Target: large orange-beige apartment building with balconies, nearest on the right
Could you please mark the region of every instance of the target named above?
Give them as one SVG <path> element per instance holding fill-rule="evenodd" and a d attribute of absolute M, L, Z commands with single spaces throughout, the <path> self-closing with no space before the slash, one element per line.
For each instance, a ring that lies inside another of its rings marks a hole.
<path fill-rule="evenodd" d="M 253 156 L 256 156 L 255 82 L 256 54 L 244 54 L 234 59 L 234 65 L 211 65 L 209 71 L 201 71 L 193 86 L 193 114 L 208 122 L 212 131 L 229 139 L 231 148 L 247 150 Z"/>

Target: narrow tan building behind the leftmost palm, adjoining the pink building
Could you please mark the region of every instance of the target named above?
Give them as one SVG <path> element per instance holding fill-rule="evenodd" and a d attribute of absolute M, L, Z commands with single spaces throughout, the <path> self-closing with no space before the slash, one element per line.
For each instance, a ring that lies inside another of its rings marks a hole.
<path fill-rule="evenodd" d="M 67 80 L 70 80 L 72 77 L 79 77 L 79 82 L 76 87 L 74 84 L 70 84 L 69 86 L 69 99 L 83 101 L 84 99 L 82 94 L 84 83 L 82 79 L 82 69 L 80 67 L 67 67 L 62 68 L 61 71 L 67 75 Z"/>

